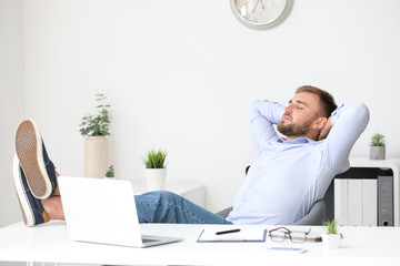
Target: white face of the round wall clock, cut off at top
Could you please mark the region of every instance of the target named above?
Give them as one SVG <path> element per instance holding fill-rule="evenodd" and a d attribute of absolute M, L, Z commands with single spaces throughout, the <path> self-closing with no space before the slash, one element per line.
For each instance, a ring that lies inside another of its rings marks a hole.
<path fill-rule="evenodd" d="M 262 27 L 282 16 L 287 0 L 231 0 L 236 17 L 247 25 Z"/>

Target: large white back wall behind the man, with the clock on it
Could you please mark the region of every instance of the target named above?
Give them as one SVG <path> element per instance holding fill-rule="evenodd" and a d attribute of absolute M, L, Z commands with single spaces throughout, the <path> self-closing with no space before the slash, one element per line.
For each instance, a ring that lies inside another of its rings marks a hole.
<path fill-rule="evenodd" d="M 303 84 L 338 102 L 362 101 L 374 132 L 400 156 L 400 2 L 296 1 L 277 28 L 240 24 L 229 1 L 26 0 L 26 114 L 63 174 L 83 173 L 80 117 L 104 92 L 111 157 L 121 178 L 143 180 L 141 155 L 169 152 L 171 182 L 207 185 L 211 211 L 230 205 L 251 163 L 248 108 L 287 102 Z"/>

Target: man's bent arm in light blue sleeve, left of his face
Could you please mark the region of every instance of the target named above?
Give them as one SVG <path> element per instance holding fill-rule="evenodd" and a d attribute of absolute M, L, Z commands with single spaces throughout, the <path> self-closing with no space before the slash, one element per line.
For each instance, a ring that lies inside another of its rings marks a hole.
<path fill-rule="evenodd" d="M 284 106 L 268 100 L 256 100 L 250 109 L 250 131 L 256 147 L 271 139 L 278 139 L 273 124 L 282 119 Z"/>

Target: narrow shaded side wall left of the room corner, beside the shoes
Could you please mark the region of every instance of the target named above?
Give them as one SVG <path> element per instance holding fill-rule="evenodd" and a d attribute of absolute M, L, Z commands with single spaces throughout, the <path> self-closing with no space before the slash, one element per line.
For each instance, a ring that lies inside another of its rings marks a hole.
<path fill-rule="evenodd" d="M 13 137 L 23 117 L 22 0 L 0 1 L 0 227 L 22 218 L 12 183 Z"/>

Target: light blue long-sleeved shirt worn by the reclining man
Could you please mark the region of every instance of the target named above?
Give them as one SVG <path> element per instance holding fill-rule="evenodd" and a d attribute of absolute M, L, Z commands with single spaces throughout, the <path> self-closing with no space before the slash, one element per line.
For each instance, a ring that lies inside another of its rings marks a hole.
<path fill-rule="evenodd" d="M 332 113 L 326 140 L 284 141 L 273 125 L 284 106 L 254 101 L 250 111 L 257 155 L 233 203 L 233 224 L 293 224 L 323 198 L 332 178 L 350 167 L 350 151 L 369 122 L 362 103 L 342 104 Z"/>

